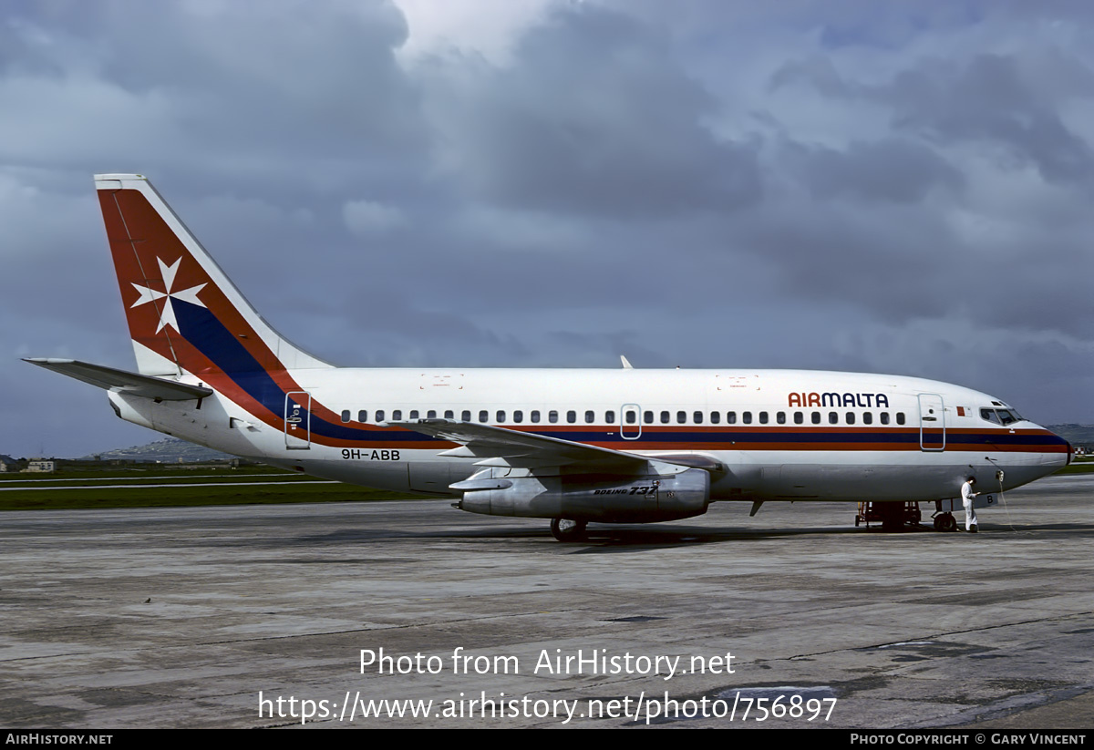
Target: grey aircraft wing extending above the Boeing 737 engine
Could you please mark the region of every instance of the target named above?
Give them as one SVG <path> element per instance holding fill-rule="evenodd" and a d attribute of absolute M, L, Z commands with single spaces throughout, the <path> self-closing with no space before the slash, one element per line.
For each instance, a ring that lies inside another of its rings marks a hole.
<path fill-rule="evenodd" d="M 445 450 L 442 456 L 481 458 L 476 466 L 568 466 L 581 464 L 590 468 L 636 469 L 650 459 L 612 448 L 563 441 L 507 427 L 445 419 L 423 419 L 412 422 L 387 422 L 423 435 L 439 437 L 462 447 Z"/>

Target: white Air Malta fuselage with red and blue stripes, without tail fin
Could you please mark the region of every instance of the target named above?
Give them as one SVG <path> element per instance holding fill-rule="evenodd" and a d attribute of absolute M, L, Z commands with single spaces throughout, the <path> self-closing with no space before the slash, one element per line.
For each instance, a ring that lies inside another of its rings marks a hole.
<path fill-rule="evenodd" d="M 1008 490 L 1051 473 L 1069 447 L 1009 409 L 945 383 L 813 371 L 299 370 L 300 405 L 257 420 L 218 394 L 154 403 L 114 394 L 125 419 L 339 481 L 457 496 L 477 470 L 455 447 L 385 427 L 446 418 L 637 453 L 714 459 L 711 500 L 928 501 L 969 474 Z M 197 383 L 197 378 L 186 378 Z M 838 406 L 836 406 L 838 403 Z M 350 437 L 340 436 L 339 430 Z M 363 430 L 363 432 L 362 432 Z M 997 471 L 1003 471 L 997 481 Z M 520 469 L 513 470 L 516 474 Z"/>

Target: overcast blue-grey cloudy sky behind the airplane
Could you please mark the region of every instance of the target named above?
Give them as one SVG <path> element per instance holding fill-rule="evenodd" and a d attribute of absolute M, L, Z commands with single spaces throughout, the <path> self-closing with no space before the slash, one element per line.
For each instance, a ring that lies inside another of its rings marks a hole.
<path fill-rule="evenodd" d="M 0 453 L 154 440 L 91 175 L 347 365 L 920 375 L 1094 422 L 1085 2 L 0 3 Z"/>

